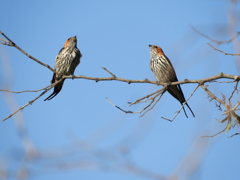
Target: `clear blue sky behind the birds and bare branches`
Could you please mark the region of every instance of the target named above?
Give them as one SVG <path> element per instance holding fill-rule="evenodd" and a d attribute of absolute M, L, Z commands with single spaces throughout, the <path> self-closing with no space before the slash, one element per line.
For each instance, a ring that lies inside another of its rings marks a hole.
<path fill-rule="evenodd" d="M 149 68 L 148 44 L 156 44 L 171 60 L 179 80 L 202 79 L 220 72 L 239 74 L 236 57 L 214 51 L 206 44 L 210 41 L 190 27 L 214 39 L 227 40 L 230 8 L 230 2 L 223 0 L 4 1 L 0 31 L 51 67 L 64 42 L 76 35 L 83 57 L 75 75 L 109 77 L 101 68 L 106 67 L 118 77 L 155 80 Z M 237 4 L 236 13 L 238 9 Z M 239 31 L 239 24 L 234 30 Z M 210 43 L 237 53 L 232 44 Z M 1 89 L 36 90 L 49 85 L 52 72 L 17 49 L 0 45 L 0 54 Z M 209 89 L 216 95 L 229 96 L 233 86 L 211 83 Z M 185 97 L 195 87 L 182 85 Z M 43 101 L 48 92 L 1 123 L 0 168 L 13 173 L 12 179 L 19 168 L 27 169 L 28 178 L 34 180 L 154 179 L 151 173 L 180 179 L 238 179 L 238 136 L 227 138 L 239 132 L 238 127 L 229 134 L 200 138 L 225 127 L 214 119 L 224 116 L 202 89 L 189 100 L 196 118 L 187 109 L 188 119 L 181 112 L 172 123 L 161 117 L 172 118 L 180 104 L 167 93 L 142 118 L 119 111 L 105 99 L 138 111 L 144 104 L 128 107 L 127 102 L 159 88 L 152 84 L 66 80 L 61 93 L 51 101 Z M 2 93 L 1 119 L 11 113 L 8 104 L 16 110 L 39 94 Z M 238 99 L 235 95 L 233 103 Z M 24 160 L 24 145 L 17 131 L 23 121 L 39 155 L 35 160 Z M 181 164 L 189 153 L 189 160 Z M 198 159 L 200 165 L 192 174 L 192 162 Z M 59 168 L 60 164 L 64 167 Z M 126 164 L 141 171 L 131 172 Z"/>

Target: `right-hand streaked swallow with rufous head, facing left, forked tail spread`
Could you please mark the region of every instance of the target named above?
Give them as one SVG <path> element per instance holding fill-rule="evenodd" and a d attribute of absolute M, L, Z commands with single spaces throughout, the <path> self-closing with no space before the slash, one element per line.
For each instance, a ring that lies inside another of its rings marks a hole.
<path fill-rule="evenodd" d="M 159 82 L 163 83 L 170 83 L 170 82 L 176 82 L 178 81 L 176 72 L 173 68 L 173 65 L 171 61 L 168 59 L 168 57 L 164 54 L 162 48 L 160 48 L 157 45 L 150 45 L 150 68 L 152 72 L 154 73 L 154 76 Z M 182 105 L 186 101 L 183 91 L 181 89 L 181 86 L 178 85 L 170 85 L 167 88 L 167 91 L 175 98 L 177 99 Z M 195 117 L 192 109 L 186 102 L 185 105 L 188 107 L 188 109 L 191 111 L 193 117 Z M 183 111 L 187 116 L 187 113 L 185 111 L 185 108 L 183 106 Z"/>

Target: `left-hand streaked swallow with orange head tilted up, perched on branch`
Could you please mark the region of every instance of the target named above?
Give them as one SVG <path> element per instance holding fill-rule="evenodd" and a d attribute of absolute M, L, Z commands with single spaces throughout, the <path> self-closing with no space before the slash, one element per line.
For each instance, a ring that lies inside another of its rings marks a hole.
<path fill-rule="evenodd" d="M 59 81 L 62 76 L 72 75 L 74 77 L 74 71 L 80 63 L 82 54 L 77 48 L 77 37 L 70 37 L 65 42 L 63 48 L 59 51 L 55 59 L 55 71 L 53 74 L 51 84 Z M 48 96 L 44 101 L 54 98 L 62 89 L 65 79 L 62 79 L 55 87 L 53 93 Z"/>

